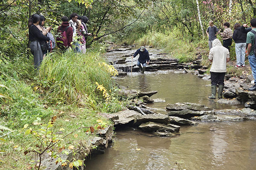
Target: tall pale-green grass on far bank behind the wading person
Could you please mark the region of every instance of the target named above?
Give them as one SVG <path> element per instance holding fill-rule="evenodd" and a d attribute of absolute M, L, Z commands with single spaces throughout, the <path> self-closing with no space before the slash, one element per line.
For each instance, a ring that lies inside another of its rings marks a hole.
<path fill-rule="evenodd" d="M 192 42 L 189 37 L 184 37 L 177 28 L 165 33 L 151 31 L 138 40 L 139 45 L 152 45 L 156 48 L 164 48 L 164 50 L 177 58 L 180 62 L 191 62 L 196 59 L 195 40 Z"/>

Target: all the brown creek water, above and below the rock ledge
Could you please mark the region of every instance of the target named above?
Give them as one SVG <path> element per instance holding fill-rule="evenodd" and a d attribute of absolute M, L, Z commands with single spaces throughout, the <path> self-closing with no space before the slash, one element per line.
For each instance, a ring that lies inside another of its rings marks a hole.
<path fill-rule="evenodd" d="M 242 107 L 208 99 L 210 81 L 192 74 L 133 73 L 116 82 L 128 89 L 158 91 L 151 98 L 160 102 L 147 106 L 160 108 L 162 113 L 168 103 L 176 102 L 215 109 Z M 86 170 L 177 170 L 178 165 L 188 170 L 256 170 L 256 122 L 203 122 L 180 127 L 176 137 L 158 137 L 131 128 L 118 130 L 105 154 L 88 158 L 85 164 Z"/>

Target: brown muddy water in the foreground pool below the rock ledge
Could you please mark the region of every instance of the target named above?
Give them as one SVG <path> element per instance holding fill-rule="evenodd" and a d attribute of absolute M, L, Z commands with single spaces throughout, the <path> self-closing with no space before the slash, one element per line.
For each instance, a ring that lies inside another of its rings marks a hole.
<path fill-rule="evenodd" d="M 203 123 L 181 127 L 175 138 L 137 130 L 117 131 L 104 155 L 86 170 L 256 170 L 256 122 Z"/>

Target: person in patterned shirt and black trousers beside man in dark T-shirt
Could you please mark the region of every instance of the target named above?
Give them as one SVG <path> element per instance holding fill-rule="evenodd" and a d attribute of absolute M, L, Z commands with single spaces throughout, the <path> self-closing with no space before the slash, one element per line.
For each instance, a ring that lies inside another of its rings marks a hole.
<path fill-rule="evenodd" d="M 230 29 L 230 23 L 226 22 L 223 24 L 223 26 L 225 29 L 223 33 L 220 33 L 223 40 L 223 46 L 226 47 L 228 51 L 230 51 L 230 45 L 232 44 L 233 31 Z"/>

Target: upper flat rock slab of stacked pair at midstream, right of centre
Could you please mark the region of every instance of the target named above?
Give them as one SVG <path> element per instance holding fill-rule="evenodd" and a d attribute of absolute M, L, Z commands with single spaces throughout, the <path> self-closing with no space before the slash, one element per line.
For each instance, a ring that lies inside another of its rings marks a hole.
<path fill-rule="evenodd" d="M 171 111 L 181 111 L 181 110 L 192 110 L 192 111 L 211 111 L 212 108 L 208 108 L 205 105 L 199 105 L 196 103 L 175 103 L 175 104 L 168 104 L 166 109 Z"/>

